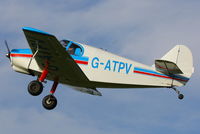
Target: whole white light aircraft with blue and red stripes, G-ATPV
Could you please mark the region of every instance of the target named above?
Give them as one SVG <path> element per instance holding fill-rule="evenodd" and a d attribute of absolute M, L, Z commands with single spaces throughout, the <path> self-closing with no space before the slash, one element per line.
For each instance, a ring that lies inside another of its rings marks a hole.
<path fill-rule="evenodd" d="M 45 80 L 53 81 L 50 94 L 43 98 L 44 108 L 57 105 L 54 96 L 58 83 L 101 96 L 97 88 L 171 88 L 185 85 L 194 72 L 192 53 L 184 45 L 176 45 L 162 58 L 147 66 L 103 49 L 71 40 L 58 41 L 47 32 L 23 27 L 30 49 L 8 49 L 12 68 L 19 73 L 36 76 L 28 84 L 28 92 L 38 96 Z"/>

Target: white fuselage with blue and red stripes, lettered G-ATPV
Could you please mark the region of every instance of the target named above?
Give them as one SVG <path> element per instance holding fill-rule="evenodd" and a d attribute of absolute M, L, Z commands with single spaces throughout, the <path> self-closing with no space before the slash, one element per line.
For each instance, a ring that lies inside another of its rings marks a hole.
<path fill-rule="evenodd" d="M 184 83 L 184 80 L 173 80 L 172 77 L 157 72 L 154 67 L 92 46 L 80 45 L 84 48 L 83 56 L 80 58 L 72 56 L 72 58 L 89 79 L 90 83 L 87 83 L 87 87 L 88 84 L 102 88 L 171 87 L 172 83 L 173 86 L 181 86 Z M 42 70 L 37 65 L 31 50 L 26 50 L 27 52 L 23 54 L 11 52 L 12 67 L 17 72 L 25 74 L 33 72 L 39 76 Z M 60 82 L 70 84 L 67 81 Z M 72 84 L 72 86 L 76 85 Z"/>

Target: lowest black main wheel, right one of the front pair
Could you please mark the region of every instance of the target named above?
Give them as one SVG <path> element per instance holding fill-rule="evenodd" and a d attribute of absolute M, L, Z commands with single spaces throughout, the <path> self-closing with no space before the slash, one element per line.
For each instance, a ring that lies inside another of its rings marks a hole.
<path fill-rule="evenodd" d="M 42 105 L 47 110 L 54 109 L 57 105 L 57 99 L 53 95 L 47 95 L 43 98 Z"/>

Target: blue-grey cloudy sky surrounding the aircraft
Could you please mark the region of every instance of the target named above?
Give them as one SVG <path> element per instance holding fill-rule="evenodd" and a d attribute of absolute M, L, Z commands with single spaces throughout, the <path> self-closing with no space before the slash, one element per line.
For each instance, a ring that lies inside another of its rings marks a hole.
<path fill-rule="evenodd" d="M 200 1 L 198 0 L 1 0 L 0 132 L 71 134 L 199 134 Z M 58 106 L 46 111 L 44 93 L 32 97 L 34 77 L 16 73 L 5 58 L 11 48 L 27 48 L 21 28 L 29 26 L 151 65 L 176 44 L 193 52 L 195 74 L 180 101 L 169 89 L 100 89 L 90 96 L 59 85 Z"/>

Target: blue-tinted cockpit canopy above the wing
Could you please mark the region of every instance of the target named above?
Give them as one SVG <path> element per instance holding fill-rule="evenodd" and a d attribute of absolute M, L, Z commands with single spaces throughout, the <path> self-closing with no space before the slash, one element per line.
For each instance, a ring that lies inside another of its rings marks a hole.
<path fill-rule="evenodd" d="M 63 47 L 66 48 L 66 51 L 70 55 L 74 55 L 74 56 L 82 56 L 83 55 L 84 50 L 80 44 L 75 43 L 73 41 L 69 41 L 69 40 L 61 40 L 60 43 L 63 45 Z"/>

